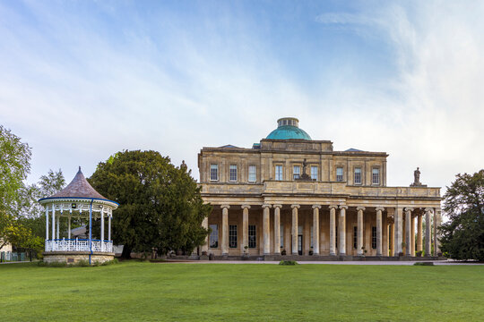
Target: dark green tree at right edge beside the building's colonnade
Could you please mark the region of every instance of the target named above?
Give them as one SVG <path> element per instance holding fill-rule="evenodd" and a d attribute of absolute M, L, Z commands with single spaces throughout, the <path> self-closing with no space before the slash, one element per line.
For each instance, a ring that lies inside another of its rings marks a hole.
<path fill-rule="evenodd" d="M 444 195 L 449 221 L 441 226 L 441 250 L 454 259 L 484 261 L 484 170 L 457 174 Z"/>

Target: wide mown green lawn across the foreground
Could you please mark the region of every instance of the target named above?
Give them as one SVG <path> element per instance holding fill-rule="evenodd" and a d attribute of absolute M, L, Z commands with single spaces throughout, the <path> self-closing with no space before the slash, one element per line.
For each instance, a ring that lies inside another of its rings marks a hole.
<path fill-rule="evenodd" d="M 484 267 L 0 265 L 0 321 L 484 318 Z"/>

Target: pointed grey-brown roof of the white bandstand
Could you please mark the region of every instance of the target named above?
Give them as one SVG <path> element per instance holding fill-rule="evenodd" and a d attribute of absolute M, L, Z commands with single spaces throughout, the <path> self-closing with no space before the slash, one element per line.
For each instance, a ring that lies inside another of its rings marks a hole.
<path fill-rule="evenodd" d="M 101 199 L 117 204 L 117 202 L 107 199 L 92 188 L 91 184 L 84 177 L 84 174 L 82 174 L 81 166 L 77 174 L 75 174 L 73 181 L 63 190 L 56 192 L 48 198 L 39 199 L 39 201 L 46 199 Z"/>

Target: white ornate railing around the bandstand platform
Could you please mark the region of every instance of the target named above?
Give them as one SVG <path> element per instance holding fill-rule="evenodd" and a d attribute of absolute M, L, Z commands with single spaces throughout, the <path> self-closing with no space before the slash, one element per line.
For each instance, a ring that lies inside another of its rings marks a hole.
<path fill-rule="evenodd" d="M 46 251 L 91 251 L 88 239 L 55 239 L 46 241 Z M 92 240 L 92 251 L 113 251 L 112 241 Z"/>

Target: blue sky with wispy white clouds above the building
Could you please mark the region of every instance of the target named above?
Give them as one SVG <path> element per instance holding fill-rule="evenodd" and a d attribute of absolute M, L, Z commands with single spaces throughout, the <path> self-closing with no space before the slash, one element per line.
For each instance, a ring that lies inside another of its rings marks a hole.
<path fill-rule="evenodd" d="M 294 116 L 335 150 L 389 154 L 387 185 L 484 165 L 483 1 L 0 0 L 0 124 L 29 182 L 153 149 L 198 179 Z"/>

